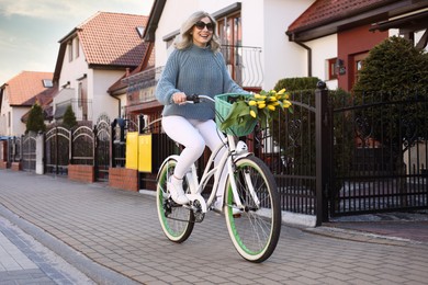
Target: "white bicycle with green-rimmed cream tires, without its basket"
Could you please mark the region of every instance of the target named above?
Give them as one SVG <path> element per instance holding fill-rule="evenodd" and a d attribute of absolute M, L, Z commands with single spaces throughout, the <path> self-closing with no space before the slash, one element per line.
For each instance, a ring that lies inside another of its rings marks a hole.
<path fill-rule="evenodd" d="M 189 102 L 214 101 L 205 95 L 188 96 Z M 217 116 L 218 117 L 218 116 Z M 199 180 L 193 164 L 183 179 L 183 189 L 190 201 L 187 205 L 174 203 L 167 190 L 167 181 L 172 175 L 178 156 L 168 157 L 157 176 L 157 210 L 161 228 L 167 238 L 174 242 L 185 241 L 192 233 L 195 223 L 201 223 L 213 209 L 216 192 L 223 193 L 223 213 L 227 229 L 239 254 L 251 262 L 262 262 L 274 251 L 281 231 L 280 198 L 277 184 L 269 168 L 249 152 L 244 141 L 236 142 L 235 136 L 227 136 L 214 150 Z M 218 163 L 214 158 L 226 148 Z M 219 184 L 221 173 L 227 169 L 225 185 Z M 213 179 L 212 179 L 213 178 Z M 202 192 L 213 181 L 207 198 Z M 238 214 L 237 214 L 238 213 Z"/>

